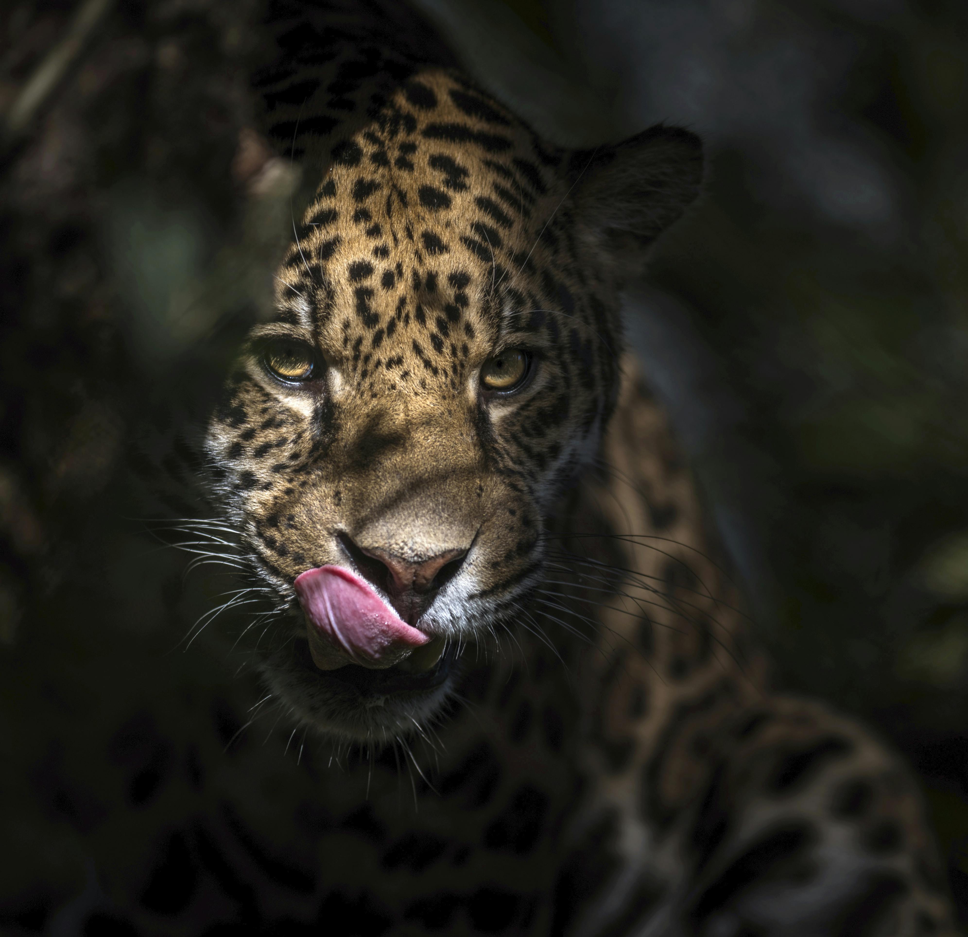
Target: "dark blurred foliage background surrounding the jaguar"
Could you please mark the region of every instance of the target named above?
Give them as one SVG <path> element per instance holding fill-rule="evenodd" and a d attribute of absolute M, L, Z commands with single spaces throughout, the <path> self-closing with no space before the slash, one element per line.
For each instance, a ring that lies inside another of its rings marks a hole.
<path fill-rule="evenodd" d="M 588 145 L 664 120 L 707 140 L 707 195 L 630 291 L 633 345 L 783 679 L 907 753 L 968 907 L 968 8 L 441 3 L 421 6 L 482 81 L 500 90 L 499 73 L 534 63 L 507 97 L 550 136 Z M 129 523 L 121 451 L 153 395 L 203 397 L 286 234 L 297 180 L 254 193 L 237 157 L 256 11 L 0 10 L 9 764 L 43 754 L 72 705 L 51 690 L 58 667 L 95 680 L 118 647 L 169 649 L 182 620 L 176 564 Z M 455 21 L 491 33 L 462 40 Z M 59 80 L 25 106 L 51 61 Z M 34 783 L 17 771 L 8 803 Z"/>

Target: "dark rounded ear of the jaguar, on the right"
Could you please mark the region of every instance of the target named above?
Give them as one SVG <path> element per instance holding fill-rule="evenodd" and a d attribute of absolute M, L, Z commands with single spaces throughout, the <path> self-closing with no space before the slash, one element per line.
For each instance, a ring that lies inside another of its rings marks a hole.
<path fill-rule="evenodd" d="M 703 144 L 678 127 L 650 127 L 614 146 L 573 153 L 579 240 L 619 284 L 641 272 L 649 248 L 699 195 Z"/>

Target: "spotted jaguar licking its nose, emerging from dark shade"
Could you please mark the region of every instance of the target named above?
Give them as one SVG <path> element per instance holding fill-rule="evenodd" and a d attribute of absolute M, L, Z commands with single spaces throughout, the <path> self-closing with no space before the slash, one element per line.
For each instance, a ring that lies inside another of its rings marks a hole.
<path fill-rule="evenodd" d="M 914 779 L 774 686 L 624 347 L 700 140 L 544 140 L 400 4 L 265 29 L 256 175 L 313 196 L 165 461 L 285 752 L 205 703 L 217 675 L 158 684 L 61 932 L 954 934 Z"/>

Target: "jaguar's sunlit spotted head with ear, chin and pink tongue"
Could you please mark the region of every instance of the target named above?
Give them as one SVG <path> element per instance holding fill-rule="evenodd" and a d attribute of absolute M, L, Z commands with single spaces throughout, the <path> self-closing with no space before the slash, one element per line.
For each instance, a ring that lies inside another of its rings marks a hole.
<path fill-rule="evenodd" d="M 270 689 L 328 735 L 382 741 L 521 615 L 614 405 L 621 258 L 695 196 L 701 158 L 664 129 L 545 147 L 439 70 L 326 145 L 206 448 L 276 609 Z"/>

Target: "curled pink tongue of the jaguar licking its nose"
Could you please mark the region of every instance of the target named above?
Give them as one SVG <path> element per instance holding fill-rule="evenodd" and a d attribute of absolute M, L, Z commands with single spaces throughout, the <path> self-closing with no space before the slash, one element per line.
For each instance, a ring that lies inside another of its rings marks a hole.
<path fill-rule="evenodd" d="M 408 651 L 430 641 L 342 566 L 308 569 L 294 585 L 310 622 L 313 658 L 322 669 L 350 662 L 391 667 Z"/>

